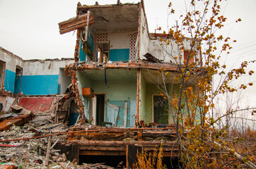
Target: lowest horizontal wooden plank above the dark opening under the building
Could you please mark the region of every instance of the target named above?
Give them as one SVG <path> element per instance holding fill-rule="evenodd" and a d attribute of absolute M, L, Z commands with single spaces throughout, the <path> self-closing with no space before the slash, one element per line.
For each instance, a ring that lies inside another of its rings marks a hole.
<path fill-rule="evenodd" d="M 80 150 L 79 155 L 81 156 L 125 156 L 125 151 L 88 151 Z"/>

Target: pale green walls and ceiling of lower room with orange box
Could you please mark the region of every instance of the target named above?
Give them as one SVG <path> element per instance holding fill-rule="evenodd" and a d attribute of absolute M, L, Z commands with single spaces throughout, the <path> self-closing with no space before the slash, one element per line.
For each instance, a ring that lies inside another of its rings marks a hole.
<path fill-rule="evenodd" d="M 124 76 L 125 71 L 128 71 Z M 127 127 L 132 127 L 135 124 L 136 114 L 136 70 L 107 70 L 107 85 L 105 86 L 103 70 L 78 71 L 78 84 L 81 94 L 82 87 L 91 87 L 95 94 L 105 93 L 106 107 L 105 114 L 107 114 L 107 103 L 120 106 L 118 112 L 117 126 L 124 126 L 124 102 L 127 103 Z M 92 99 L 83 97 L 83 104 L 85 106 L 86 118 L 91 119 L 92 115 Z M 109 113 L 107 115 L 110 115 Z M 105 115 L 105 121 L 107 121 Z M 95 117 L 94 117 L 95 118 Z"/>

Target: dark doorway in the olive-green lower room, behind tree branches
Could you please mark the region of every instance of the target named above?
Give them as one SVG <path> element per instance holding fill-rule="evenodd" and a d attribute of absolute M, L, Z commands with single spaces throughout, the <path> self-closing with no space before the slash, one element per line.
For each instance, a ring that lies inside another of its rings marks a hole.
<path fill-rule="evenodd" d="M 165 96 L 153 95 L 153 123 L 168 124 L 168 101 Z"/>

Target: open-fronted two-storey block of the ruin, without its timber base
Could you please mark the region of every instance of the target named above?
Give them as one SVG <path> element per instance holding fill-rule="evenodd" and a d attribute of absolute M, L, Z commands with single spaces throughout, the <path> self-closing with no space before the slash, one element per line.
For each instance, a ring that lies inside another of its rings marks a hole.
<path fill-rule="evenodd" d="M 172 123 L 161 85 L 178 89 L 178 65 L 187 57 L 170 35 L 149 33 L 144 2 L 77 6 L 77 16 L 59 23 L 60 33 L 77 30 L 75 63 L 66 68 L 76 86 L 80 117 L 93 125 L 134 127 Z M 159 41 L 169 39 L 163 47 Z M 199 56 L 198 56 L 199 57 Z M 190 62 L 196 62 L 190 58 Z M 198 64 L 198 63 L 197 63 Z M 161 68 L 168 78 L 158 75 Z"/>

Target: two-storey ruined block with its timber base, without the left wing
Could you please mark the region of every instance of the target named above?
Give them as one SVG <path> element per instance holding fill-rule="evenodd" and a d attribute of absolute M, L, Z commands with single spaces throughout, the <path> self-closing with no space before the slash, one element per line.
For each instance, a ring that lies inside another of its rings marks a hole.
<path fill-rule="evenodd" d="M 188 61 L 200 66 L 201 56 L 188 58 L 190 39 L 183 38 L 185 49 L 180 52 L 171 34 L 149 33 L 144 1 L 78 3 L 76 17 L 59 23 L 60 34 L 73 30 L 77 33 L 75 63 L 66 66 L 65 72 L 76 94 L 77 123 L 103 126 L 86 127 L 86 132 L 78 127 L 78 133 L 71 134 L 66 143 L 80 146 L 79 155 L 85 156 L 80 160 L 126 156 L 129 168 L 138 147 L 153 151 L 161 143 L 163 156 L 178 156 L 176 131 L 168 113 L 172 110 L 161 87 L 173 96 L 180 87 L 175 77 L 182 65 Z M 170 45 L 163 46 L 162 40 Z M 159 76 L 161 69 L 168 72 L 168 78 Z"/>

